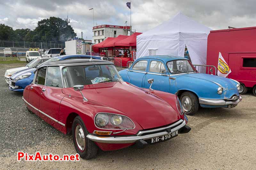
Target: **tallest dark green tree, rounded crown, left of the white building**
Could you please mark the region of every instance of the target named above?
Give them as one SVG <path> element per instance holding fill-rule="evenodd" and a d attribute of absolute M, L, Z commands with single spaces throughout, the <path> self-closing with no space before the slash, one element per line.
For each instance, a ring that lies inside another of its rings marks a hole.
<path fill-rule="evenodd" d="M 38 21 L 36 28 L 33 31 L 34 41 L 59 41 L 64 43 L 68 39 L 76 36 L 73 28 L 61 18 L 50 17 Z"/>

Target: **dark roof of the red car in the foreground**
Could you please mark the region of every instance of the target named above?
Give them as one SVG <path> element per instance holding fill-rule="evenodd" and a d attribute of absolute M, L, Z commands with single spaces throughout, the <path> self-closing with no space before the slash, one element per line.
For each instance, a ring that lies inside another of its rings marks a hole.
<path fill-rule="evenodd" d="M 90 59 L 73 59 L 73 60 L 60 60 L 60 61 L 53 61 L 53 62 L 49 62 L 49 63 L 43 63 L 42 65 L 40 65 L 40 68 L 45 67 L 45 66 L 59 66 L 59 65 L 73 65 L 73 64 L 86 64 L 86 63 L 106 63 L 106 64 L 113 64 L 112 62 L 109 61 L 105 61 L 105 60 L 96 60 L 93 59 L 92 61 L 90 61 Z"/>

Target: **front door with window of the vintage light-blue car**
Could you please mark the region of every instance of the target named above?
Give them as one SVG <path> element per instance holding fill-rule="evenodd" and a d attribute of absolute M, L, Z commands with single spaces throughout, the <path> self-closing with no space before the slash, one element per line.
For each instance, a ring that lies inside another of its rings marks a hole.
<path fill-rule="evenodd" d="M 150 84 L 148 84 L 148 79 L 153 78 L 154 82 L 151 86 L 152 89 L 169 92 L 169 73 L 165 64 L 161 60 L 150 59 L 150 63 L 148 65 L 149 67 L 143 87 L 149 88 Z"/>

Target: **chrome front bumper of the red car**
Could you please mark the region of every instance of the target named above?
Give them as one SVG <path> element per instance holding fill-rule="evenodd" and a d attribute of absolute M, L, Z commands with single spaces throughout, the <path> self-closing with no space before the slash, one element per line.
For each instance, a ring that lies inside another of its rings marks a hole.
<path fill-rule="evenodd" d="M 186 125 L 186 121 L 183 120 L 182 123 L 171 129 L 172 132 L 179 130 L 180 128 L 184 127 Z M 167 128 L 166 128 L 167 129 Z M 143 132 L 143 131 L 142 131 Z M 138 134 L 143 134 L 143 133 L 138 133 Z M 111 137 L 99 137 L 95 136 L 93 134 L 88 134 L 86 137 L 94 142 L 99 142 L 99 143 L 107 143 L 107 144 L 131 144 L 135 143 L 136 141 L 143 139 L 151 139 L 153 137 L 160 137 L 164 135 L 168 135 L 169 133 L 167 131 L 164 132 L 156 132 L 154 134 L 149 134 L 149 135 L 144 135 L 144 136 L 123 136 L 123 137 L 118 137 L 118 136 L 111 136 Z"/>

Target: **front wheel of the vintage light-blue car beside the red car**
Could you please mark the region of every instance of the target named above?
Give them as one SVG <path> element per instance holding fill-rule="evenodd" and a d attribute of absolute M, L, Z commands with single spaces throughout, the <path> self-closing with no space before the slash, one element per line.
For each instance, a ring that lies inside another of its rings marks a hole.
<path fill-rule="evenodd" d="M 184 92 L 180 95 L 180 102 L 186 115 L 195 115 L 198 111 L 199 102 L 192 92 Z"/>

